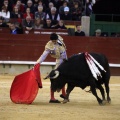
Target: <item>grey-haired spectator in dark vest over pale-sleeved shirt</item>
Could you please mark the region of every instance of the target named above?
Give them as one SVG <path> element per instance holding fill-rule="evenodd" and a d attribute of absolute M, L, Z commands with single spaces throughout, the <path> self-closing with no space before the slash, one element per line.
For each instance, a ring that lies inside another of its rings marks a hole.
<path fill-rule="evenodd" d="M 50 13 L 47 13 L 46 15 L 46 19 L 51 19 L 54 25 L 60 20 L 60 15 L 56 10 L 56 7 L 52 7 Z"/>

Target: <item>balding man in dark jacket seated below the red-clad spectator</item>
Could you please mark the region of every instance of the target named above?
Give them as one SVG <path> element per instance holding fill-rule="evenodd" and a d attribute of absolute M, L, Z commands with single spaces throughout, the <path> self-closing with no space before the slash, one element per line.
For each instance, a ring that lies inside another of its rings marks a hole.
<path fill-rule="evenodd" d="M 34 22 L 30 16 L 27 16 L 26 19 L 23 20 L 22 25 L 24 28 L 26 28 L 26 30 L 30 31 L 34 27 Z"/>

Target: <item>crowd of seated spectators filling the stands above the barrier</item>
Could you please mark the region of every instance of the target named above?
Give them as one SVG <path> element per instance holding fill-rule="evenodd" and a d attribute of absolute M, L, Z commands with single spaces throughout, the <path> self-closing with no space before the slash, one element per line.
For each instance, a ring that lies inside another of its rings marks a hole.
<path fill-rule="evenodd" d="M 67 29 L 65 20 L 81 21 L 83 15 L 90 16 L 92 0 L 87 0 L 86 3 L 85 0 L 1 0 L 0 27 Z M 15 19 L 16 23 L 11 23 L 11 19 Z M 12 33 L 23 32 L 17 30 Z"/>

